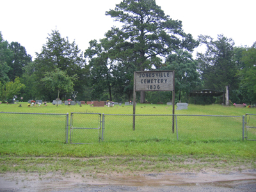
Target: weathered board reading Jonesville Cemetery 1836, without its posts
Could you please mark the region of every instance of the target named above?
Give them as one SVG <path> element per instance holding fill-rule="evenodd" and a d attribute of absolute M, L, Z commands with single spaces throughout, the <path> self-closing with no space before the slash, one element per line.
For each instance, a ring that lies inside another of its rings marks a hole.
<path fill-rule="evenodd" d="M 174 90 L 173 70 L 134 72 L 135 91 Z"/>

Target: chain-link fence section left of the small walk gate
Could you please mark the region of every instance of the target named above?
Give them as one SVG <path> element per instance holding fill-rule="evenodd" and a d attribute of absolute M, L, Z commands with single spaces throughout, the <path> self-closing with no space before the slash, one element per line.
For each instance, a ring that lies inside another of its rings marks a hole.
<path fill-rule="evenodd" d="M 68 113 L 0 112 L 0 141 L 68 143 Z"/>

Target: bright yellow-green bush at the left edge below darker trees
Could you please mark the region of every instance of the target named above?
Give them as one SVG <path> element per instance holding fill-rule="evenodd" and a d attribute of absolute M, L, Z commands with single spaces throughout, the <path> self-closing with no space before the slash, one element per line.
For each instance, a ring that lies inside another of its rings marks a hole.
<path fill-rule="evenodd" d="M 13 95 L 18 95 L 20 90 L 25 87 L 24 84 L 20 83 L 19 77 L 16 77 L 14 82 L 10 81 L 8 83 L 2 84 L 0 81 L 0 97 L 3 102 L 6 99 L 12 99 Z"/>

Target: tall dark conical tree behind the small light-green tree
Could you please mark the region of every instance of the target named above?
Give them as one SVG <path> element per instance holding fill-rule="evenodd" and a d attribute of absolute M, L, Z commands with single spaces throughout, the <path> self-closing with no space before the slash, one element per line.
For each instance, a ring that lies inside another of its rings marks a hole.
<path fill-rule="evenodd" d="M 59 31 L 52 31 L 47 37 L 47 42 L 42 47 L 42 52 L 36 53 L 35 74 L 38 82 L 37 90 L 39 95 L 45 95 L 48 99 L 56 99 L 54 93 L 45 90 L 40 84 L 41 79 L 45 77 L 45 72 L 54 71 L 55 68 L 66 71 L 67 75 L 74 79 L 74 90 L 83 92 L 83 84 L 87 83 L 88 68 L 85 66 L 83 52 L 78 49 L 75 42 L 70 43 L 68 38 L 62 38 Z M 63 97 L 66 92 L 60 92 Z"/>

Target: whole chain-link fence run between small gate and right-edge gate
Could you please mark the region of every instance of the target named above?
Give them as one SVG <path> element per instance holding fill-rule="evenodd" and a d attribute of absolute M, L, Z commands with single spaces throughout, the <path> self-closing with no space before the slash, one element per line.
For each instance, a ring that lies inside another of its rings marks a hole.
<path fill-rule="evenodd" d="M 241 116 L 214 115 L 103 115 L 104 141 L 145 140 L 242 140 Z"/>

